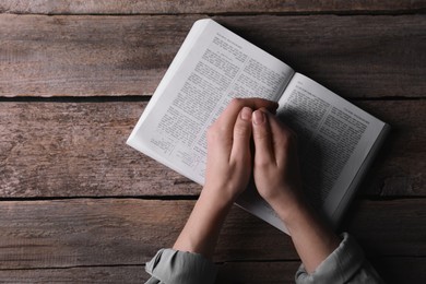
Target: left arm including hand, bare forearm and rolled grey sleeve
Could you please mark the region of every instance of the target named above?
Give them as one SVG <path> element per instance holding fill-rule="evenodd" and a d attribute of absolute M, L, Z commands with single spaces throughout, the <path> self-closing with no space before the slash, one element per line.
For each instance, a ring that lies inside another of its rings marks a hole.
<path fill-rule="evenodd" d="M 251 109 L 275 111 L 276 103 L 234 99 L 208 131 L 205 185 L 173 249 L 159 250 L 146 263 L 146 283 L 213 283 L 212 258 L 223 222 L 252 170 Z"/>

